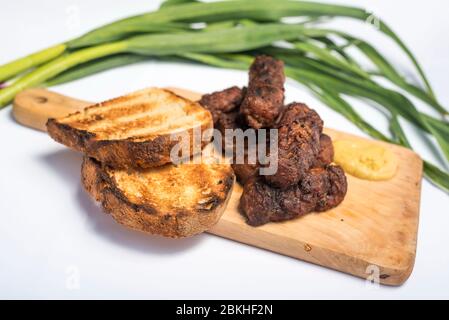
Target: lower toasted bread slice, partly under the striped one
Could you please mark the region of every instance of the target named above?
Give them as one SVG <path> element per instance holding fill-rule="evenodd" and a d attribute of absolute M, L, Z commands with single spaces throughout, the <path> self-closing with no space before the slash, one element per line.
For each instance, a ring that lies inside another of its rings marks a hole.
<path fill-rule="evenodd" d="M 215 225 L 235 180 L 228 164 L 116 170 L 88 157 L 81 177 L 86 190 L 118 223 L 171 238 L 192 236 Z"/>

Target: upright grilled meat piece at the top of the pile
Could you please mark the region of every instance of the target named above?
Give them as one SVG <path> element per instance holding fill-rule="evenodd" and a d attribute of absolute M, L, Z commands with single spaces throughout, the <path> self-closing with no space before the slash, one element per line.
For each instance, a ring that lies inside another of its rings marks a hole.
<path fill-rule="evenodd" d="M 249 71 L 248 92 L 240 111 L 255 129 L 273 126 L 284 104 L 284 63 L 258 56 Z"/>

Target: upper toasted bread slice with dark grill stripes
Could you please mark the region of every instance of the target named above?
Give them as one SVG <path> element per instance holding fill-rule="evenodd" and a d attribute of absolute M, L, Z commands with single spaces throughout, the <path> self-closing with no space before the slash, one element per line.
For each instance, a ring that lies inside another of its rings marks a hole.
<path fill-rule="evenodd" d="M 172 134 L 188 134 L 191 151 L 201 150 L 208 141 L 196 142 L 201 139 L 193 139 L 194 132 L 211 128 L 209 111 L 158 88 L 102 102 L 47 123 L 54 140 L 117 169 L 170 163 L 170 151 L 181 139 L 173 139 Z"/>

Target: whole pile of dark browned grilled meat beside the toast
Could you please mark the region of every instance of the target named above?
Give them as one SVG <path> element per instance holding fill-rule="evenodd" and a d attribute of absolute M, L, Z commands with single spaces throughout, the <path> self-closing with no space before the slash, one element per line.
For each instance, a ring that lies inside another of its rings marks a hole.
<path fill-rule="evenodd" d="M 323 134 L 322 119 L 305 104 L 284 106 L 284 82 L 283 62 L 258 56 L 249 71 L 248 88 L 232 87 L 200 101 L 223 136 L 226 129 L 278 130 L 276 173 L 259 175 L 261 165 L 247 158 L 233 164 L 244 185 L 240 211 L 252 226 L 327 211 L 338 206 L 347 191 L 343 169 L 332 163 L 332 140 Z"/>

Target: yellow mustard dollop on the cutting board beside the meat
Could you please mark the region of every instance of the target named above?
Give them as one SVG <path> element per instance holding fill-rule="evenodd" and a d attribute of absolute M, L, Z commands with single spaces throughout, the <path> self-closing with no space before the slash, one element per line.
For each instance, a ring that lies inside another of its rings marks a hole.
<path fill-rule="evenodd" d="M 363 140 L 338 140 L 334 142 L 334 149 L 334 161 L 357 178 L 385 181 L 397 172 L 397 156 L 379 144 Z"/>

